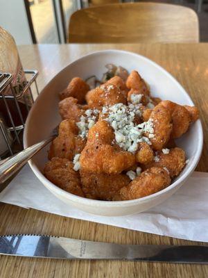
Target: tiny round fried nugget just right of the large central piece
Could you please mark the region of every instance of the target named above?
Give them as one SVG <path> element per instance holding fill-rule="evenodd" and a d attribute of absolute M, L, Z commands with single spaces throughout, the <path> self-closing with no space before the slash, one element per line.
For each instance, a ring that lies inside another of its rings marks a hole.
<path fill-rule="evenodd" d="M 141 164 L 148 164 L 153 161 L 153 149 L 146 142 L 139 143 L 139 149 L 136 154 L 137 162 Z"/>

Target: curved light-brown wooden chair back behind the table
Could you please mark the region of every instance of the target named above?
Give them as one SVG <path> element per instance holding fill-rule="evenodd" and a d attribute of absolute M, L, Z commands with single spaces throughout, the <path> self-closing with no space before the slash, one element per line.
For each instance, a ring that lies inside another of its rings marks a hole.
<path fill-rule="evenodd" d="M 69 22 L 69 42 L 198 42 L 196 13 L 165 3 L 114 3 L 77 10 Z"/>

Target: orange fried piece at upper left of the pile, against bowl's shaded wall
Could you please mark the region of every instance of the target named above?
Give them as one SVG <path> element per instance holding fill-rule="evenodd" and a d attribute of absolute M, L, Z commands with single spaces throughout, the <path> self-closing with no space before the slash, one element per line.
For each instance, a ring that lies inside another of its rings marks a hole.
<path fill-rule="evenodd" d="M 89 91 L 89 85 L 80 79 L 80 77 L 74 77 L 71 79 L 69 85 L 65 90 L 60 92 L 60 99 L 65 99 L 66 97 L 74 97 L 78 99 L 79 104 L 85 102 L 85 95 Z"/>

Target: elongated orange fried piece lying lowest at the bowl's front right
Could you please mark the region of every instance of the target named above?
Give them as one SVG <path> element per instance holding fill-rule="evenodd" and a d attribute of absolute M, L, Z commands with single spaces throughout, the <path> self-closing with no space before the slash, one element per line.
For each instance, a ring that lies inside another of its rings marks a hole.
<path fill-rule="evenodd" d="M 138 199 L 157 193 L 169 186 L 171 178 L 162 167 L 151 167 L 133 179 L 128 186 L 121 188 L 119 195 L 114 197 L 115 201 Z"/>

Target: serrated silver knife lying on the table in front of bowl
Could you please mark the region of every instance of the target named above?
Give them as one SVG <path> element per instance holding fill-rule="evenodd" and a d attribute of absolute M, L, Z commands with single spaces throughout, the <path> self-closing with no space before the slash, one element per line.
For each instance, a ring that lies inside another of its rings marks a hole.
<path fill-rule="evenodd" d="M 208 246 L 121 245 L 35 234 L 0 236 L 0 254 L 55 259 L 208 263 Z"/>

